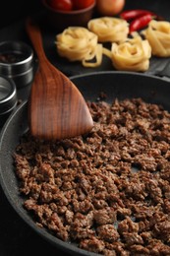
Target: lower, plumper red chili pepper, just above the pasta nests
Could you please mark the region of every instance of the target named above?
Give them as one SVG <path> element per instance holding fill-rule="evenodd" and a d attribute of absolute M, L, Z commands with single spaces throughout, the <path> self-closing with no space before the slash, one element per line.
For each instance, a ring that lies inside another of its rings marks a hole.
<path fill-rule="evenodd" d="M 151 14 L 145 14 L 141 16 L 140 18 L 135 19 L 130 24 L 130 33 L 131 32 L 137 32 L 144 27 L 148 25 L 148 23 L 153 19 L 153 16 Z"/>

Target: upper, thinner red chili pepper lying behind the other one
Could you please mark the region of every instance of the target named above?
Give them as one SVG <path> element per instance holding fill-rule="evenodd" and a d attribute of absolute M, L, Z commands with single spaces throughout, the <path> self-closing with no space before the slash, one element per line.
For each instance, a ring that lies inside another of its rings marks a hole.
<path fill-rule="evenodd" d="M 143 15 L 150 14 L 152 16 L 156 16 L 154 13 L 148 11 L 148 10 L 142 10 L 142 9 L 134 9 L 134 10 L 128 10 L 124 11 L 120 14 L 120 17 L 126 21 L 130 21 L 136 18 L 139 18 Z"/>

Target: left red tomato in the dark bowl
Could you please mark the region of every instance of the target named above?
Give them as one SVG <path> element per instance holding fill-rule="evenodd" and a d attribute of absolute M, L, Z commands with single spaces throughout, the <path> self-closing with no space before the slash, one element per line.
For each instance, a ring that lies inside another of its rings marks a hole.
<path fill-rule="evenodd" d="M 73 9 L 72 0 L 50 0 L 49 5 L 54 10 L 71 11 Z"/>

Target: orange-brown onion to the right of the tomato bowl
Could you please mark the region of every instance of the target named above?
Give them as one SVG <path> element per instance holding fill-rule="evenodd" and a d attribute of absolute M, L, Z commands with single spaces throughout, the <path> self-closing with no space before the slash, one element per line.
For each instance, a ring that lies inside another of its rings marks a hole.
<path fill-rule="evenodd" d="M 117 15 L 123 10 L 124 6 L 125 0 L 96 0 L 96 8 L 101 15 Z"/>

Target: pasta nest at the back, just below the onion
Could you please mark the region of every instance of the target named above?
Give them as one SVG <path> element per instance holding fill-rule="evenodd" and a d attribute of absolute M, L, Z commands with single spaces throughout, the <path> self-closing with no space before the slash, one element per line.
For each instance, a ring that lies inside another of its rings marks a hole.
<path fill-rule="evenodd" d="M 125 20 L 112 17 L 91 19 L 87 28 L 97 34 L 99 42 L 122 42 L 129 32 L 129 24 Z"/>

